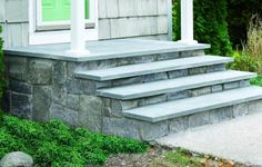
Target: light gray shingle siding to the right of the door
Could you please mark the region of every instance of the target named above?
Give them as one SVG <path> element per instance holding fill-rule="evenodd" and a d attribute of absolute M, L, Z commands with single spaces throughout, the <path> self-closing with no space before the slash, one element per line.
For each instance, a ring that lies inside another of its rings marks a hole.
<path fill-rule="evenodd" d="M 168 0 L 99 0 L 99 26 L 100 39 L 154 36 L 167 40 Z"/>

